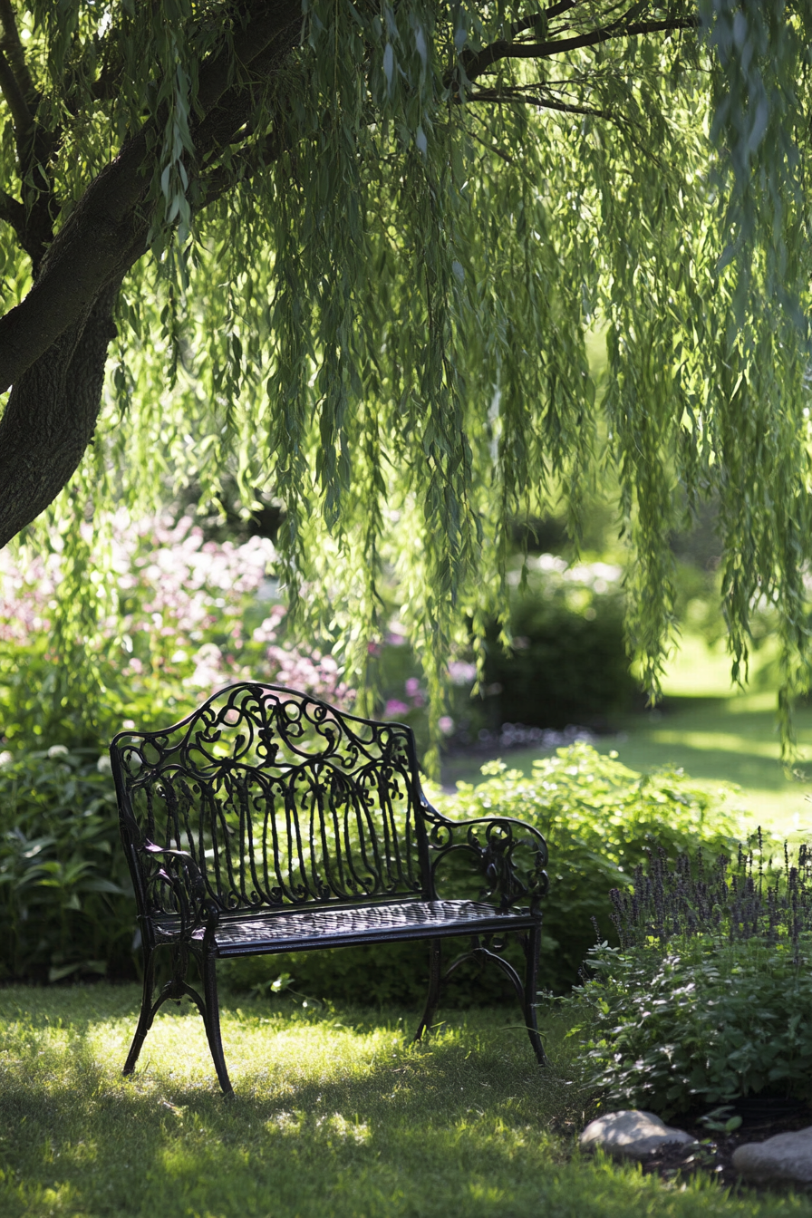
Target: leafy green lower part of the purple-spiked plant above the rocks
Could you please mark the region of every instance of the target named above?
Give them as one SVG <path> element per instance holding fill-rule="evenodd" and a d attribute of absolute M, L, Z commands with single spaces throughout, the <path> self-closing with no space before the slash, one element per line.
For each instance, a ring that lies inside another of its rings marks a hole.
<path fill-rule="evenodd" d="M 812 1097 L 812 976 L 791 943 L 604 944 L 589 965 L 571 1013 L 606 1104 L 668 1117 L 762 1090 Z"/>

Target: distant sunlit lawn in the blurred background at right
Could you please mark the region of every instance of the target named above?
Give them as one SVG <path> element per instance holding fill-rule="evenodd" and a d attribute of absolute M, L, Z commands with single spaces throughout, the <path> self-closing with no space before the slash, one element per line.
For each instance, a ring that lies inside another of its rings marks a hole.
<path fill-rule="evenodd" d="M 751 820 L 778 834 L 812 831 L 812 777 L 788 778 L 779 762 L 773 692 L 741 693 L 730 688 L 729 660 L 687 639 L 665 681 L 665 700 L 655 711 L 618 720 L 618 734 L 598 741 L 601 753 L 643 773 L 656 766 L 681 766 L 691 778 L 740 788 L 730 795 Z M 812 708 L 796 713 L 801 767 L 812 758 Z M 538 750 L 517 749 L 504 760 L 530 772 Z M 448 788 L 463 778 L 476 782 L 481 761 L 452 758 L 443 766 Z M 812 776 L 812 764 L 806 765 Z"/>

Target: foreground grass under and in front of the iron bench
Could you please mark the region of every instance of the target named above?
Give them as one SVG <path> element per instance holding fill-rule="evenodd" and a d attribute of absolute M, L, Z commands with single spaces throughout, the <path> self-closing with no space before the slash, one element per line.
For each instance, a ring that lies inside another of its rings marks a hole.
<path fill-rule="evenodd" d="M 5 1218 L 812 1216 L 579 1156 L 569 1041 L 539 1069 L 513 1011 L 457 1013 L 415 1047 L 402 1012 L 226 1006 L 229 1104 L 185 1007 L 122 1078 L 136 1007 L 135 987 L 0 991 Z"/>

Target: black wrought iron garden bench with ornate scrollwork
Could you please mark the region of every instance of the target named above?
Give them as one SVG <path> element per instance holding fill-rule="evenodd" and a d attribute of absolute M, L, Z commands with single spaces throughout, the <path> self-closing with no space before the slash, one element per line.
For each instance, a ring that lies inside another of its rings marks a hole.
<path fill-rule="evenodd" d="M 513 982 L 544 1063 L 536 1022 L 544 838 L 508 817 L 442 816 L 421 790 L 409 727 L 250 682 L 166 731 L 119 732 L 110 755 L 144 946 L 125 1074 L 158 1007 L 186 996 L 203 1017 L 229 1095 L 218 959 L 402 939 L 431 942 L 415 1040 L 431 1023 L 441 982 L 464 960 L 491 960 Z M 439 865 L 464 888 L 463 860 L 478 893 L 441 896 Z M 523 948 L 523 980 L 502 955 L 509 933 Z M 470 937 L 470 949 L 443 974 L 442 940 L 458 937 Z M 164 949 L 172 977 L 153 1000 L 155 957 Z M 186 980 L 190 956 L 202 993 Z"/>

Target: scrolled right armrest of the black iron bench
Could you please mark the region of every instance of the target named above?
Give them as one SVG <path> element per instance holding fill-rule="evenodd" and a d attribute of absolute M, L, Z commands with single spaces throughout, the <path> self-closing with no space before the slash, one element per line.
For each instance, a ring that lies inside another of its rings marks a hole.
<path fill-rule="evenodd" d="M 481 899 L 493 901 L 499 909 L 528 904 L 536 912 L 547 895 L 549 879 L 544 870 L 548 861 L 543 834 L 525 821 L 513 816 L 477 816 L 452 821 L 431 804 L 422 808 L 429 829 L 429 851 L 432 884 L 437 868 L 449 855 L 467 854 L 485 887 Z M 436 895 L 436 894 L 433 894 Z"/>

